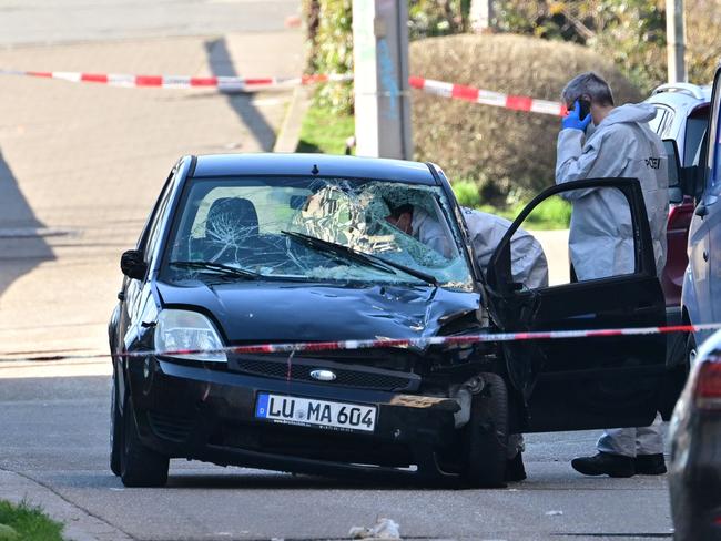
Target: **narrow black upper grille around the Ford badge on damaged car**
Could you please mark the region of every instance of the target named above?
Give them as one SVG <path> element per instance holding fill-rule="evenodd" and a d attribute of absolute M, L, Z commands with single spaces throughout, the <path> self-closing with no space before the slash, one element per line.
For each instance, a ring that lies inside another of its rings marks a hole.
<path fill-rule="evenodd" d="M 355 387 L 362 389 L 377 390 L 416 390 L 420 384 L 420 377 L 416 374 L 394 372 L 392 370 L 382 370 L 372 367 L 359 367 L 357 365 L 341 365 L 339 363 L 307 360 L 291 363 L 291 374 L 288 374 L 288 364 L 284 360 L 248 359 L 236 358 L 233 363 L 237 371 L 253 374 L 266 378 L 290 379 L 295 381 L 312 381 L 321 384 L 311 376 L 311 371 L 322 368 L 332 370 L 336 379 L 327 381 L 327 385 Z"/>

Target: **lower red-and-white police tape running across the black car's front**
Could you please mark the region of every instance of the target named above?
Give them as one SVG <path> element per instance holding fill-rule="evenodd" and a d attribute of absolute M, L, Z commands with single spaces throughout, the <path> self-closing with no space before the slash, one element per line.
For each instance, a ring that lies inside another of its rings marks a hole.
<path fill-rule="evenodd" d="M 365 340 L 335 340 L 335 341 L 299 341 L 293 344 L 255 344 L 247 346 L 229 346 L 214 349 L 173 349 L 165 351 L 138 350 L 123 354 L 87 354 L 87 355 L 43 355 L 37 357 L 0 357 L 2 361 L 37 361 L 37 360 L 65 360 L 65 359 L 94 359 L 103 357 L 174 357 L 181 355 L 199 354 L 295 354 L 302 351 L 339 351 L 349 349 L 373 348 L 407 348 L 427 347 L 437 345 L 464 345 L 480 343 L 525 341 L 525 340 L 559 340 L 569 338 L 608 338 L 618 336 L 639 335 L 667 335 L 671 333 L 697 333 L 700 330 L 721 329 L 721 323 L 701 325 L 670 325 L 664 327 L 637 327 L 620 329 L 588 329 L 588 330 L 536 330 L 527 333 L 488 333 L 465 336 L 431 336 L 416 338 L 370 338 Z M 8 354 L 6 354 L 8 355 Z"/>

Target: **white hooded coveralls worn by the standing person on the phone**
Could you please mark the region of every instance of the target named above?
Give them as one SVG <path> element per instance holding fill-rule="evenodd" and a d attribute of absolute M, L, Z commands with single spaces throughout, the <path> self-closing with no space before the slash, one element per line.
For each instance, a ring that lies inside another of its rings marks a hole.
<path fill-rule="evenodd" d="M 656 269 L 660 274 L 666 264 L 669 182 L 663 143 L 647 125 L 654 116 L 651 104 L 629 104 L 613 109 L 588 139 L 580 130 L 561 130 L 556 183 L 638 178 L 651 228 Z M 610 188 L 573 191 L 561 196 L 573 205 L 569 248 L 578 279 L 633 273 L 633 236 L 626 197 Z M 650 427 L 608 429 L 597 448 L 627 457 L 662 453 L 660 425 L 657 414 Z"/>

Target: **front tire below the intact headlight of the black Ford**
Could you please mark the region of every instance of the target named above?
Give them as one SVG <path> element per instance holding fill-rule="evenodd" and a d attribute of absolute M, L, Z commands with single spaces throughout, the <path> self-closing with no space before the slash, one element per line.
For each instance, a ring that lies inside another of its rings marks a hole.
<path fill-rule="evenodd" d="M 123 418 L 121 476 L 125 487 L 164 487 L 167 482 L 170 459 L 143 446 L 130 400 Z"/>

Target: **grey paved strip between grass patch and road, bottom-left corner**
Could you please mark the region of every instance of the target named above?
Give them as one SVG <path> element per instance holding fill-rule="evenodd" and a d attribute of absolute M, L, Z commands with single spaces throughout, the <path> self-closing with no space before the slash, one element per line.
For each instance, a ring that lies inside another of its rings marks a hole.
<path fill-rule="evenodd" d="M 39 506 L 51 519 L 62 522 L 68 541 L 132 541 L 133 538 L 75 506 L 62 494 L 14 471 L 0 468 L 0 499 Z"/>

